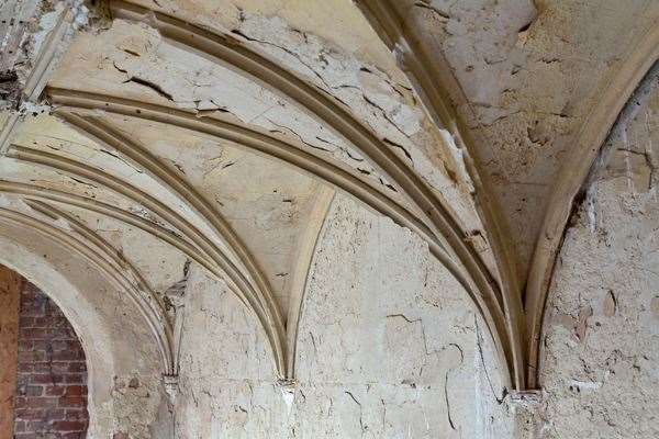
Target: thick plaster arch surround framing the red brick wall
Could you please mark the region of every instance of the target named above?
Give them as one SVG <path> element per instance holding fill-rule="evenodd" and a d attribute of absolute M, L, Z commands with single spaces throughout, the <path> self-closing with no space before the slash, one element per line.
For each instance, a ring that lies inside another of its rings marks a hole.
<path fill-rule="evenodd" d="M 0 223 L 0 263 L 47 292 L 80 339 L 88 373 L 87 437 L 152 437 L 168 426 L 160 356 L 127 294 L 79 255 L 29 228 Z"/>

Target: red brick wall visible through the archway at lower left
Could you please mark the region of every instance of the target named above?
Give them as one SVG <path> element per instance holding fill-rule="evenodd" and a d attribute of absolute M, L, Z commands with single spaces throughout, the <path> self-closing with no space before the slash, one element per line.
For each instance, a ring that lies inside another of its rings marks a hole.
<path fill-rule="evenodd" d="M 62 311 L 24 282 L 19 316 L 14 438 L 87 436 L 85 352 Z"/>

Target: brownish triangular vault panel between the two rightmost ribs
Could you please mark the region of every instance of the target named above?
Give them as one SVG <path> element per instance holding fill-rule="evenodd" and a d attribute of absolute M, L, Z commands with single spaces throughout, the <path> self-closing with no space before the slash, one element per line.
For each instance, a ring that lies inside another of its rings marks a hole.
<path fill-rule="evenodd" d="M 421 0 L 401 8 L 445 59 L 448 90 L 477 140 L 472 155 L 510 226 L 524 279 L 547 201 L 584 120 L 640 37 L 647 0 Z"/>

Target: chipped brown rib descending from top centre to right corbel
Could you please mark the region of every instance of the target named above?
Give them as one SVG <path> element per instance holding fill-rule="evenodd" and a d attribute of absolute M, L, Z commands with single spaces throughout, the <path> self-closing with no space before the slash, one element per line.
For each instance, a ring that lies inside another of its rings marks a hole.
<path fill-rule="evenodd" d="M 502 333 L 501 337 L 510 340 L 511 357 L 507 361 L 513 374 L 512 384 L 516 390 L 524 390 L 526 386 L 525 328 L 522 289 L 518 283 L 520 273 L 516 272 L 514 263 L 514 251 L 510 246 L 510 233 L 504 226 L 501 213 L 485 190 L 489 184 L 482 181 L 484 176 L 480 173 L 477 166 L 481 160 L 478 159 L 477 149 L 473 147 L 477 140 L 472 138 L 471 131 L 455 111 L 448 89 L 453 91 L 460 103 L 466 103 L 467 99 L 461 94 L 461 88 L 448 67 L 448 63 L 443 58 L 437 59 L 442 54 L 428 56 L 418 41 L 416 31 L 404 24 L 404 19 L 399 14 L 400 7 L 395 5 L 395 1 L 356 0 L 355 3 L 382 42 L 395 55 L 399 67 L 410 79 L 414 92 L 433 123 L 440 130 L 447 130 L 456 145 L 465 153 L 465 165 L 476 188 L 476 207 L 485 227 L 501 280 L 501 294 L 506 318 L 505 333 Z"/>

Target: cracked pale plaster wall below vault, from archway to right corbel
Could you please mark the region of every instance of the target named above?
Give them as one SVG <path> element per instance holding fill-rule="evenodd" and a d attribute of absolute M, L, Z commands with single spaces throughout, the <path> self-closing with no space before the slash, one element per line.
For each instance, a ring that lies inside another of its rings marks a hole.
<path fill-rule="evenodd" d="M 192 266 L 186 291 L 177 438 L 512 437 L 463 291 L 421 239 L 345 196 L 314 255 L 294 385 L 275 382 L 225 285 Z"/>

